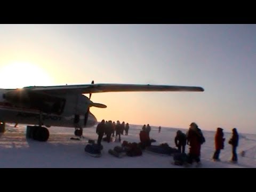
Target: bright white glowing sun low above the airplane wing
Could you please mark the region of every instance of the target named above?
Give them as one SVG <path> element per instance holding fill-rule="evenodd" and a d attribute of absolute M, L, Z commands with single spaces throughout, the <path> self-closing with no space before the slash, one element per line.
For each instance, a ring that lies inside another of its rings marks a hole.
<path fill-rule="evenodd" d="M 0 88 L 51 85 L 52 79 L 43 68 L 28 62 L 13 62 L 0 67 Z"/>

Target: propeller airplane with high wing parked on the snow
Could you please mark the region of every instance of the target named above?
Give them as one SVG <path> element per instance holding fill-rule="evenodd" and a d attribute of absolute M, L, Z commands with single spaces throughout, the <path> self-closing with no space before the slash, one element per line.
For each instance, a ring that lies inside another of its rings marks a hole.
<path fill-rule="evenodd" d="M 5 123 L 26 124 L 26 137 L 47 141 L 46 127 L 73 127 L 81 137 L 83 128 L 92 127 L 97 118 L 90 107 L 106 108 L 91 101 L 92 93 L 149 91 L 196 91 L 198 86 L 173 86 L 149 84 L 81 84 L 60 86 L 27 86 L 22 89 L 0 89 L 0 122 L 4 132 Z M 84 94 L 88 94 L 86 97 Z M 34 125 L 34 126 L 30 126 Z"/>

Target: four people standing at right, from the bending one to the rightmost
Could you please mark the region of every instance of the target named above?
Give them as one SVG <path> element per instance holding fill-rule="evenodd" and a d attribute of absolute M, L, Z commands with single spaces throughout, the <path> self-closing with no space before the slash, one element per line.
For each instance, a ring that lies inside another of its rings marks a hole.
<path fill-rule="evenodd" d="M 232 146 L 232 157 L 230 161 L 237 163 L 236 148 L 238 146 L 239 137 L 236 128 L 232 129 L 232 132 L 233 134 L 228 142 Z M 201 145 L 205 142 L 205 138 L 196 123 L 190 124 L 187 134 L 178 130 L 174 141 L 176 147 L 178 147 L 179 153 L 185 153 L 186 145 L 190 146 L 187 163 L 191 164 L 195 161 L 197 164 L 200 164 Z M 223 129 L 218 127 L 217 132 L 215 133 L 215 151 L 212 157 L 213 161 L 220 161 L 219 155 L 220 150 L 224 149 L 224 141 Z"/>

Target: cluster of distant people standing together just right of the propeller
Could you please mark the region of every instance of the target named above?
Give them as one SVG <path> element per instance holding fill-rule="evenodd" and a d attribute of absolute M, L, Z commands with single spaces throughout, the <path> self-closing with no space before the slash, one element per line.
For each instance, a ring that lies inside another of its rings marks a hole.
<path fill-rule="evenodd" d="M 124 134 L 125 131 L 125 135 L 128 135 L 128 131 L 129 131 L 129 123 L 124 123 L 122 122 L 122 124 L 117 121 L 112 122 L 112 121 L 106 121 L 104 119 L 102 119 L 102 121 L 97 125 L 97 129 L 96 129 L 96 133 L 98 134 L 98 145 L 101 145 L 101 140 L 103 138 L 103 135 L 106 134 L 106 140 L 107 142 L 110 142 L 111 139 L 111 135 L 112 137 L 115 137 L 115 132 L 116 132 L 116 137 L 118 137 L 118 140 L 121 141 L 121 134 Z"/>

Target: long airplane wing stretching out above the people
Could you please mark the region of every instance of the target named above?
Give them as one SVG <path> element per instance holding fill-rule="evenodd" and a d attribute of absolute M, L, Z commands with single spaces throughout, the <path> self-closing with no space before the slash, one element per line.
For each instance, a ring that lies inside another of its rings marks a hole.
<path fill-rule="evenodd" d="M 102 92 L 138 92 L 138 91 L 204 91 L 198 86 L 175 85 L 142 85 L 142 84 L 86 84 L 86 85 L 61 85 L 61 86 L 30 86 L 23 89 L 44 92 L 47 94 L 63 93 L 102 93 Z"/>

